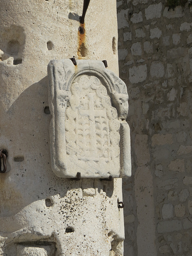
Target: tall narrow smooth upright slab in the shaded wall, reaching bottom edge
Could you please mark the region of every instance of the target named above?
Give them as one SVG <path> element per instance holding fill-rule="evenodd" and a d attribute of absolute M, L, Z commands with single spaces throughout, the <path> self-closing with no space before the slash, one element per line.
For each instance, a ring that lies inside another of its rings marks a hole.
<path fill-rule="evenodd" d="M 138 217 L 138 256 L 156 256 L 153 178 L 150 168 L 148 166 L 138 167 L 134 182 Z"/>

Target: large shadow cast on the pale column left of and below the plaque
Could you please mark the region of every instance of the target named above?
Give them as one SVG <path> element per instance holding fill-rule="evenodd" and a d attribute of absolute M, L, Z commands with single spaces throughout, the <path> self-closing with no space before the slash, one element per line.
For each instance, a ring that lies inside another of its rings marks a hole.
<path fill-rule="evenodd" d="M 7 148 L 10 171 L 1 174 L 0 217 L 13 216 L 38 200 L 45 200 L 45 206 L 49 206 L 51 197 L 64 198 L 73 189 L 80 188 L 82 196 L 94 196 L 97 190 L 112 197 L 113 180 L 74 181 L 58 178 L 52 172 L 47 84 L 47 76 L 32 84 L 5 114 L 8 127 L 5 144 L 11 148 Z"/>

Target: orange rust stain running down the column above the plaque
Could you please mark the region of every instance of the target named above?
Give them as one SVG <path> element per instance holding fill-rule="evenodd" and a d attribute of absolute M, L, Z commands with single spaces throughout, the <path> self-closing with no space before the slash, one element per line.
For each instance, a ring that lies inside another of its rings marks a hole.
<path fill-rule="evenodd" d="M 84 33 L 82 33 L 82 31 Z M 84 24 L 80 24 L 80 27 L 78 29 L 78 51 L 77 51 L 78 59 L 83 59 L 83 57 L 86 57 L 87 48 L 85 45 L 85 41 L 86 41 L 86 31 L 85 31 L 85 23 L 84 23 Z"/>

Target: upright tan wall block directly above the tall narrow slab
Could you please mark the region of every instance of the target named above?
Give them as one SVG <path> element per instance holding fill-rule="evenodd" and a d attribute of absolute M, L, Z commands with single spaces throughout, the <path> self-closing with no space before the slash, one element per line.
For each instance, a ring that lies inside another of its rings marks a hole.
<path fill-rule="evenodd" d="M 148 136 L 136 134 L 135 137 L 135 153 L 137 158 L 137 165 L 144 166 L 150 161 L 150 152 L 148 148 Z"/>

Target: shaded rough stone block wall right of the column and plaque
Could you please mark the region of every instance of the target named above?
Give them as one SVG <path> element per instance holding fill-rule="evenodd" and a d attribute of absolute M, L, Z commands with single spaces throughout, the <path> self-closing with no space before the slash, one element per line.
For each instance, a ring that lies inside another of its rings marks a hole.
<path fill-rule="evenodd" d="M 191 5 L 117 1 L 132 147 L 124 256 L 192 255 Z"/>

